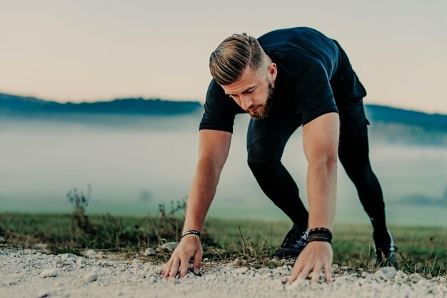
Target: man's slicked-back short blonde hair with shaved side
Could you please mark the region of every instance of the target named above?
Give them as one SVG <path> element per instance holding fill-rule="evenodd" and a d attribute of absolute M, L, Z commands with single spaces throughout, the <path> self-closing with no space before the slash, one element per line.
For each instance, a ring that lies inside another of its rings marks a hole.
<path fill-rule="evenodd" d="M 258 40 L 247 34 L 233 34 L 211 53 L 209 69 L 217 84 L 237 81 L 247 66 L 257 71 L 263 65 L 263 49 Z"/>

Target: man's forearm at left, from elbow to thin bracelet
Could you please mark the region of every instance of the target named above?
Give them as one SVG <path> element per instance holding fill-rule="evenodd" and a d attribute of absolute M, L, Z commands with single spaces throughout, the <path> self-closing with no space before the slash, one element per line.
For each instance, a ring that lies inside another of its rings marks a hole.
<path fill-rule="evenodd" d="M 186 204 L 184 232 L 195 229 L 201 232 L 205 217 L 216 194 L 221 169 L 216 168 L 210 159 L 201 159 L 189 191 Z"/>

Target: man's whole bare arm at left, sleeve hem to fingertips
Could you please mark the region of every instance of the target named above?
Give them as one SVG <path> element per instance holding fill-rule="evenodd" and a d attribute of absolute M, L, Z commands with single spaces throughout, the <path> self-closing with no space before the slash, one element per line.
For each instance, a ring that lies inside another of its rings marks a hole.
<path fill-rule="evenodd" d="M 201 130 L 199 132 L 199 162 L 189 191 L 186 204 L 184 232 L 191 229 L 201 232 L 206 213 L 216 194 L 221 171 L 228 157 L 231 134 L 227 131 Z M 194 257 L 194 272 L 201 267 L 202 247 L 199 237 L 194 234 L 181 239 L 161 273 L 164 277 L 175 277 L 180 270 L 184 277 L 189 267 L 189 259 Z"/>

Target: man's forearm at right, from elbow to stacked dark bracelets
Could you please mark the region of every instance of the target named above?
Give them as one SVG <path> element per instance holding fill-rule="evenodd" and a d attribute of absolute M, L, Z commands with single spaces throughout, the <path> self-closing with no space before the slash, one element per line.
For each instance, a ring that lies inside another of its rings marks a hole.
<path fill-rule="evenodd" d="M 336 181 L 336 159 L 326 159 L 308 164 L 309 229 L 325 227 L 332 231 L 336 210 Z"/>

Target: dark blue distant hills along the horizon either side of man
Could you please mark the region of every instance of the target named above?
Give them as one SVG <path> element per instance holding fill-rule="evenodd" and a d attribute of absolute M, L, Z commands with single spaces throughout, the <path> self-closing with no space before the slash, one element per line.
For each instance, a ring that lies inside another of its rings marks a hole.
<path fill-rule="evenodd" d="M 32 117 L 37 114 L 140 114 L 178 115 L 201 111 L 199 101 L 169 101 L 161 99 L 114 99 L 112 101 L 61 104 L 34 97 L 0 93 L 0 114 Z M 426 130 L 447 132 L 447 115 L 408 111 L 390 106 L 366 105 L 366 116 L 370 121 L 382 124 L 403 124 Z M 388 125 L 389 126 L 389 125 Z"/>

